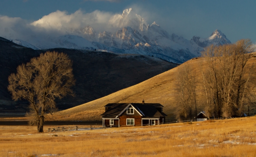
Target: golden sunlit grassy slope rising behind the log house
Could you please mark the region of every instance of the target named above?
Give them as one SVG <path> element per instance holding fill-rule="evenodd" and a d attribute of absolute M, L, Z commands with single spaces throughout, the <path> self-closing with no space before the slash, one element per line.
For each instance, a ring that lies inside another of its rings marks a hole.
<path fill-rule="evenodd" d="M 255 53 L 255 52 L 254 52 Z M 253 54 L 255 56 L 255 54 Z M 204 58 L 191 59 L 180 66 L 189 64 L 193 69 L 193 73 L 196 74 L 198 78 L 201 77 L 200 74 L 200 63 L 203 63 L 206 66 L 206 61 Z M 256 58 L 252 57 L 248 61 L 248 66 L 252 66 L 256 63 Z M 179 66 L 179 67 L 180 67 Z M 177 69 L 173 68 L 169 71 L 166 71 L 162 74 L 156 75 L 144 82 L 136 84 L 132 87 L 128 87 L 123 90 L 119 90 L 115 93 L 112 93 L 106 97 L 91 101 L 89 103 L 76 106 L 64 111 L 55 113 L 57 121 L 91 121 L 91 120 L 100 120 L 100 114 L 104 112 L 104 107 L 108 103 L 141 103 L 142 99 L 145 100 L 145 103 L 160 103 L 164 106 L 164 113 L 168 115 L 166 118 L 167 121 L 175 120 L 176 108 L 179 105 L 177 93 Z M 197 86 L 197 111 L 204 111 L 202 104 L 202 97 L 204 96 L 203 86 L 200 85 L 200 82 L 196 84 Z M 253 87 L 252 92 L 256 93 L 255 88 Z M 254 99 L 253 99 L 254 100 Z M 253 106 L 250 108 L 250 113 L 256 114 L 256 107 Z M 247 114 L 247 113 L 246 113 Z"/>

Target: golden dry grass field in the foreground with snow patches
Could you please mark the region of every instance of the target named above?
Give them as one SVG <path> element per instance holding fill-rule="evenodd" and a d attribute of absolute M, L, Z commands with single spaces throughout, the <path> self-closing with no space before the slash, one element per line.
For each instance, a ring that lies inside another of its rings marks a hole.
<path fill-rule="evenodd" d="M 0 126 L 0 148 L 8 157 L 256 156 L 256 117 L 45 133 Z"/>

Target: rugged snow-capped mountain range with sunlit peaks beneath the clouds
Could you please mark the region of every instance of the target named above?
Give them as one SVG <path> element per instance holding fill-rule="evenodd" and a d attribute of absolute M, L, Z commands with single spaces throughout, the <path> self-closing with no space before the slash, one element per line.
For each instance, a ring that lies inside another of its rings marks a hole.
<path fill-rule="evenodd" d="M 181 36 L 170 35 L 156 22 L 151 25 L 132 8 L 125 9 L 121 15 L 115 15 L 109 24 L 117 28 L 116 32 L 98 32 L 91 26 L 80 29 L 67 29 L 66 35 L 42 41 L 14 40 L 16 43 L 32 49 L 72 48 L 107 51 L 114 53 L 132 53 L 154 56 L 174 63 L 182 63 L 200 56 L 204 47 L 215 44 L 231 43 L 220 31 L 215 30 L 209 38 L 193 36 L 187 40 Z"/>

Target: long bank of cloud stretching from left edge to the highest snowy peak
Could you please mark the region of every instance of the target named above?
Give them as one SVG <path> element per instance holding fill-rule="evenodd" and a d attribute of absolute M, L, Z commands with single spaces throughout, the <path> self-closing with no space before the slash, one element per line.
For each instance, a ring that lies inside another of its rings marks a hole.
<path fill-rule="evenodd" d="M 122 21 L 122 13 L 114 14 L 99 10 L 86 13 L 80 9 L 70 14 L 66 11 L 57 10 L 32 22 L 19 17 L 12 18 L 0 15 L 0 36 L 6 39 L 20 39 L 33 44 L 39 40 L 51 40 L 66 34 L 83 36 L 78 30 L 87 25 L 91 26 L 96 33 L 103 31 L 115 33 L 117 30 L 128 26 L 128 21 L 131 19 L 127 17 L 123 20 L 126 22 Z M 139 29 L 141 24 L 144 24 L 145 27 L 146 21 L 144 20 L 138 26 L 134 26 Z"/>

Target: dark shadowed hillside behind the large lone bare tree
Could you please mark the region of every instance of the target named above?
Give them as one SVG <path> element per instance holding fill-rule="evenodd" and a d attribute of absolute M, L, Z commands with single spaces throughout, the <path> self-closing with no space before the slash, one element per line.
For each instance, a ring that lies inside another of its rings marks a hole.
<path fill-rule="evenodd" d="M 55 48 L 33 50 L 0 37 L 0 113 L 26 113 L 27 101 L 14 102 L 7 90 L 8 76 L 16 72 L 18 65 L 45 51 L 68 54 L 73 60 L 73 74 L 76 97 L 57 100 L 61 110 L 74 107 L 107 96 L 161 74 L 176 64 L 164 60 L 139 55 L 115 54 L 102 51 Z"/>

